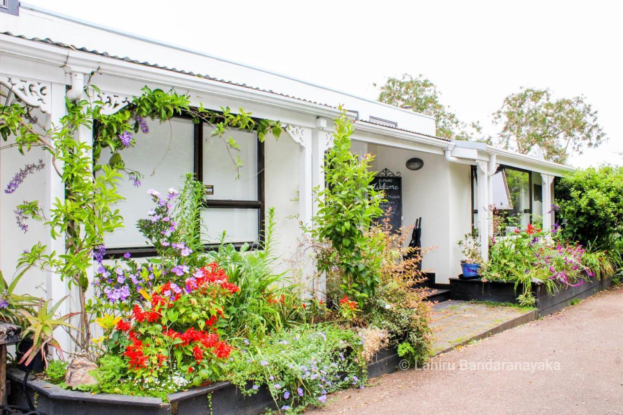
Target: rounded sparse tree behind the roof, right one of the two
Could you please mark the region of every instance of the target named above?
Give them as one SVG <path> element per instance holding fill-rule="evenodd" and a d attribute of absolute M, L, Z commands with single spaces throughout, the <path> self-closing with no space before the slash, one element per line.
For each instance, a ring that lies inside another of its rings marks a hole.
<path fill-rule="evenodd" d="M 597 111 L 582 95 L 554 100 L 549 89 L 522 88 L 508 95 L 493 122 L 502 125 L 498 145 L 521 154 L 538 146 L 545 160 L 558 163 L 566 162 L 569 151 L 581 154 L 607 140 Z"/>

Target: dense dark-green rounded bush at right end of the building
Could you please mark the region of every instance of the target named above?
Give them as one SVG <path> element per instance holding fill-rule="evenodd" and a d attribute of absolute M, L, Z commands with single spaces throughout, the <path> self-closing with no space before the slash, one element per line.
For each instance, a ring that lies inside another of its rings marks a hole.
<path fill-rule="evenodd" d="M 591 249 L 616 249 L 623 234 L 622 167 L 566 174 L 556 183 L 555 194 L 565 237 Z"/>

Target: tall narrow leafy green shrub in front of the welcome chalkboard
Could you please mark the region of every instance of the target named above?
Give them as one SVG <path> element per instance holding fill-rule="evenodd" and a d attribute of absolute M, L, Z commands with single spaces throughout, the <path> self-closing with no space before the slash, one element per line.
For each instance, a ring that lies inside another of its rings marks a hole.
<path fill-rule="evenodd" d="M 346 294 L 364 305 L 379 284 L 383 241 L 366 236 L 374 219 L 383 214 L 379 204 L 383 193 L 372 186 L 372 156 L 358 158 L 351 153 L 353 123 L 342 112 L 335 120 L 333 147 L 325 158 L 325 189 L 318 192 L 318 214 L 312 237 L 326 242 L 317 252 L 318 270 L 328 283 L 337 280 L 341 292 L 328 292 L 336 300 Z"/>

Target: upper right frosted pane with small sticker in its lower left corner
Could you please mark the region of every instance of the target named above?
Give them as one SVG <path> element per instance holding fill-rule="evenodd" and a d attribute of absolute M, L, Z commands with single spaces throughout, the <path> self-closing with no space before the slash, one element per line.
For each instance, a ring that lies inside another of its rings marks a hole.
<path fill-rule="evenodd" d="M 230 131 L 223 138 L 211 136 L 212 126 L 203 130 L 203 183 L 213 186 L 210 200 L 257 200 L 257 134 Z M 231 136 L 240 148 L 230 148 Z M 235 161 L 240 156 L 240 177 Z"/>

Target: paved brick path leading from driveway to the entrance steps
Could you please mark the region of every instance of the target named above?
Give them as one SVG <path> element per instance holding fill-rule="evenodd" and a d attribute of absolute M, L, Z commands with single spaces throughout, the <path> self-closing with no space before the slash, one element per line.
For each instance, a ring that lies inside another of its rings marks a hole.
<path fill-rule="evenodd" d="M 433 306 L 430 327 L 435 355 L 472 340 L 480 340 L 532 320 L 535 310 L 468 301 L 444 301 Z"/>

